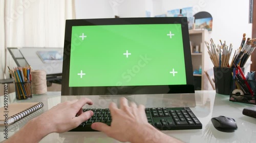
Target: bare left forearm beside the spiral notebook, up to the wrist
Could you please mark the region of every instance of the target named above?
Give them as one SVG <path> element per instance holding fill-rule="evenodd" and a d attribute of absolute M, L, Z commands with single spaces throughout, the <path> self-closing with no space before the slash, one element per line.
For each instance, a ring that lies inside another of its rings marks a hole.
<path fill-rule="evenodd" d="M 37 123 L 36 119 L 30 120 L 22 129 L 6 139 L 4 143 L 9 142 L 39 142 L 50 133 L 47 126 Z"/>

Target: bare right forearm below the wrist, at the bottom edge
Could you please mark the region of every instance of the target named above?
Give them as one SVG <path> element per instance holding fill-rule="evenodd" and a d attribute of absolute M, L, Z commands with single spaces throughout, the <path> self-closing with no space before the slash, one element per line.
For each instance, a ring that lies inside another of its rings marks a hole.
<path fill-rule="evenodd" d="M 139 143 L 139 142 L 147 142 L 147 143 L 182 143 L 182 141 L 168 136 L 161 131 L 157 130 L 152 125 L 148 124 L 143 128 L 140 128 L 140 130 L 135 131 L 135 136 L 132 143 Z"/>

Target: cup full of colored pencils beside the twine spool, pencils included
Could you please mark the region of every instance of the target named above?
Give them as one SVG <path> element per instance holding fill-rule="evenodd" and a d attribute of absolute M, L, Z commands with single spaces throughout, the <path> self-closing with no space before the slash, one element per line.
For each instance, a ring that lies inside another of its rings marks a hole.
<path fill-rule="evenodd" d="M 30 67 L 16 67 L 13 68 L 13 70 L 9 68 L 9 73 L 14 80 L 15 94 L 17 100 L 32 98 L 30 71 Z"/>

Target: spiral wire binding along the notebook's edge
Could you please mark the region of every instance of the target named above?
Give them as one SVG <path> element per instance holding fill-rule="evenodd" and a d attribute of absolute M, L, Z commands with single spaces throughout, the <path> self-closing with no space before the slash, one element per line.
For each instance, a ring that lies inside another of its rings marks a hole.
<path fill-rule="evenodd" d="M 16 115 L 9 117 L 8 124 L 14 124 L 15 122 L 25 118 L 26 116 L 30 115 L 31 113 L 35 112 L 36 110 L 38 110 L 42 107 L 44 107 L 44 104 L 42 102 L 39 102 L 39 103 L 31 106 L 30 108 L 27 108 L 27 109 L 17 113 Z"/>

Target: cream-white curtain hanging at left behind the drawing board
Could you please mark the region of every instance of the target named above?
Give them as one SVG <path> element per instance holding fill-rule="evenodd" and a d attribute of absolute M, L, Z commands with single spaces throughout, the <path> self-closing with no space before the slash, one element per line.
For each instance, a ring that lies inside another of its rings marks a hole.
<path fill-rule="evenodd" d="M 75 19 L 75 0 L 0 1 L 0 69 L 7 47 L 63 47 L 66 19 Z M 6 58 L 7 66 L 16 66 L 9 52 Z"/>

